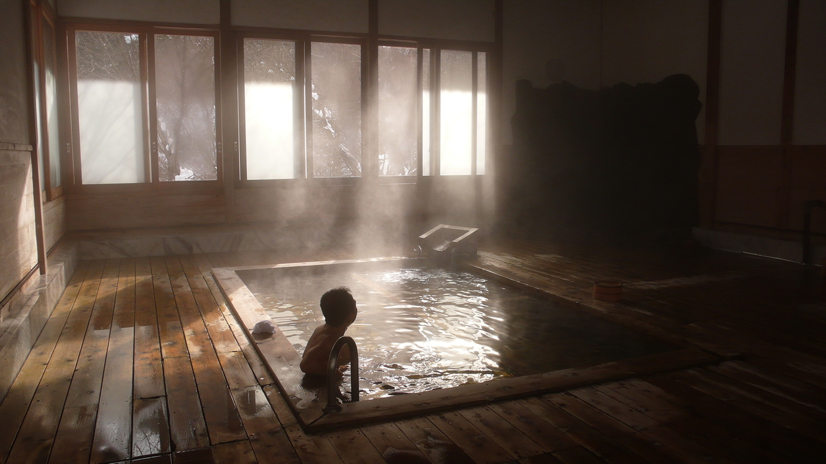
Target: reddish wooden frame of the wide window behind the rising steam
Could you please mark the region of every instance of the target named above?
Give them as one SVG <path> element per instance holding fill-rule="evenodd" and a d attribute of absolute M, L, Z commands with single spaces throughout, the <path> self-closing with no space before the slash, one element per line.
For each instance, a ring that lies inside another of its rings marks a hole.
<path fill-rule="evenodd" d="M 296 116 L 296 157 L 300 166 L 299 173 L 303 175 L 292 179 L 254 179 L 246 177 L 246 127 L 244 121 L 244 40 L 288 40 L 296 43 L 296 80 L 300 81 L 298 88 L 301 88 L 301 95 L 293 100 L 294 115 Z M 362 175 L 359 177 L 347 178 L 316 178 L 312 175 L 312 102 L 311 102 L 311 76 L 312 58 L 311 44 L 313 42 L 342 43 L 362 46 Z M 417 73 L 417 160 L 416 174 L 413 176 L 381 176 L 377 173 L 378 159 L 374 149 L 375 144 L 369 136 L 375 133 L 377 121 L 368 114 L 368 107 L 373 104 L 373 98 L 377 97 L 377 75 L 373 79 L 368 63 L 369 47 L 375 47 L 372 55 L 377 56 L 379 46 L 398 46 L 417 50 L 416 73 Z M 377 182 L 382 184 L 404 184 L 412 182 L 432 182 L 433 178 L 440 178 L 439 163 L 439 77 L 440 77 L 440 55 L 441 50 L 459 50 L 472 52 L 472 140 L 471 140 L 471 173 L 465 175 L 445 176 L 449 178 L 477 177 L 484 174 L 477 173 L 477 130 L 478 130 L 478 54 L 486 54 L 486 92 L 491 92 L 491 55 L 494 53 L 496 44 L 487 42 L 472 42 L 463 40 L 434 40 L 415 37 L 379 36 L 373 44 L 369 44 L 367 37 L 362 34 L 348 36 L 328 35 L 318 32 L 308 33 L 304 31 L 284 31 L 269 30 L 263 28 L 240 27 L 235 28 L 235 50 L 238 56 L 238 95 L 239 95 L 239 150 L 238 162 L 240 175 L 236 179 L 239 187 L 287 187 L 290 185 L 303 185 L 310 182 L 313 185 L 358 185 L 365 182 Z M 423 123 L 422 123 L 422 88 L 423 76 L 423 54 L 425 50 L 430 52 L 430 174 L 423 174 Z M 373 83 L 373 80 L 376 82 Z M 302 81 L 302 82 L 301 82 Z M 303 85 L 301 85 L 303 84 Z M 491 137 L 491 98 L 486 98 L 487 102 L 487 138 Z M 298 119 L 301 118 L 301 119 Z M 487 147 L 490 147 L 490 143 Z M 486 157 L 490 155 L 490 149 L 486 150 Z"/>

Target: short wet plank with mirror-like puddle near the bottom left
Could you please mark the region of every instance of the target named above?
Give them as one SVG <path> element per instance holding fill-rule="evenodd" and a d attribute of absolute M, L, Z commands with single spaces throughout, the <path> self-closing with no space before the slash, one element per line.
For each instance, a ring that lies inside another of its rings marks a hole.
<path fill-rule="evenodd" d="M 132 457 L 169 452 L 171 443 L 165 398 L 136 399 L 132 407 Z"/>

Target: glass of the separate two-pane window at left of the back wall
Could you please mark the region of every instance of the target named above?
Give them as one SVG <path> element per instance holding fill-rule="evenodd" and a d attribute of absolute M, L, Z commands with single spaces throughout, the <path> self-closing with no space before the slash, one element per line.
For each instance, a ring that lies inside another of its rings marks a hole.
<path fill-rule="evenodd" d="M 70 37 L 83 184 L 217 180 L 216 36 Z"/>

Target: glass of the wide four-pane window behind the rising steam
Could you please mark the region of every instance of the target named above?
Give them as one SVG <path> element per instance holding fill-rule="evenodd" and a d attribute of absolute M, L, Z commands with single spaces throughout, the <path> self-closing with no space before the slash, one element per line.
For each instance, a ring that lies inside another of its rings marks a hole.
<path fill-rule="evenodd" d="M 485 173 L 487 52 L 380 42 L 368 153 L 363 44 L 250 36 L 240 45 L 242 180 Z"/>

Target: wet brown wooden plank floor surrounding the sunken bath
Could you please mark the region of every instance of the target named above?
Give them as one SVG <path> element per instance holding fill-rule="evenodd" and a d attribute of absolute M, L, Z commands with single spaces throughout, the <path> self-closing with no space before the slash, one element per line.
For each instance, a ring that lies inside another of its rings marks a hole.
<path fill-rule="evenodd" d="M 83 262 L 0 404 L 0 462 L 826 462 L 823 280 L 730 253 L 507 242 L 478 266 L 718 354 L 707 367 L 306 434 L 213 267 L 301 250 Z M 363 256 L 358 256 L 363 258 Z M 596 304 L 591 282 L 625 282 Z"/>

